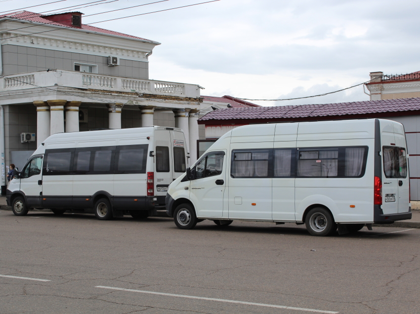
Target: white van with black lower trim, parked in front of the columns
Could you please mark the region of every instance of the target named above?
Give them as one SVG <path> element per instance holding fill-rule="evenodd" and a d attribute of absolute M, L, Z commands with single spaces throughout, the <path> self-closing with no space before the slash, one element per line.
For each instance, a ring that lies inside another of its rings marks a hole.
<path fill-rule="evenodd" d="M 7 188 L 15 215 L 31 208 L 94 212 L 106 220 L 165 209 L 168 185 L 187 168 L 181 129 L 145 127 L 51 135 Z"/>

